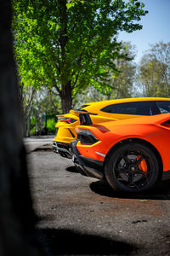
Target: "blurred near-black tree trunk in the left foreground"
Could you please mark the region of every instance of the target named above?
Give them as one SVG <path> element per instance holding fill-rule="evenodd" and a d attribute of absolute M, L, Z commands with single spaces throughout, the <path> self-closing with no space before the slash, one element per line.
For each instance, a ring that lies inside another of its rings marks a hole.
<path fill-rule="evenodd" d="M 0 1 L 0 255 L 40 255 L 22 142 L 11 1 Z"/>

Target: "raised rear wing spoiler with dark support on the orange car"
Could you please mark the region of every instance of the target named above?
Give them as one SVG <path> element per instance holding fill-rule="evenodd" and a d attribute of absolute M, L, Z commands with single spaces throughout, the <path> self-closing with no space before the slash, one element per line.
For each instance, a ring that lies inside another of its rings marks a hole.
<path fill-rule="evenodd" d="M 71 110 L 70 113 L 76 115 L 80 119 L 80 125 L 93 125 L 90 114 L 97 115 L 97 113 L 89 113 L 83 110 Z"/>

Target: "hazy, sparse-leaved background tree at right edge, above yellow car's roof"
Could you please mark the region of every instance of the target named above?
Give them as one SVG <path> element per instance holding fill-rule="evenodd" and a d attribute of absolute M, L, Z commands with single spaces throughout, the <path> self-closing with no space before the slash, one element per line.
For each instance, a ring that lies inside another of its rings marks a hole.
<path fill-rule="evenodd" d="M 144 96 L 170 96 L 170 42 L 151 45 L 139 65 Z"/>

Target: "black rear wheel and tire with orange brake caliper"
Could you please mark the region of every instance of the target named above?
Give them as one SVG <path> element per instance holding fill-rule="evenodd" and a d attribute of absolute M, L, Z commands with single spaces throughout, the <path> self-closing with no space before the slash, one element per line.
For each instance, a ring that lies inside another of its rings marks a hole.
<path fill-rule="evenodd" d="M 126 143 L 113 150 L 105 163 L 106 181 L 116 191 L 141 192 L 159 178 L 156 154 L 143 143 Z"/>

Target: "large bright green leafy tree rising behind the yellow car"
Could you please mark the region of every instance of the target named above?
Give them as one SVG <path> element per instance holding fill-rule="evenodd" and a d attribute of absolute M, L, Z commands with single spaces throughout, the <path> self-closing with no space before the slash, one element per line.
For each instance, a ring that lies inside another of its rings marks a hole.
<path fill-rule="evenodd" d="M 58 92 L 63 112 L 88 84 L 106 86 L 121 54 L 120 31 L 142 28 L 137 0 L 14 0 L 15 55 L 22 82 Z"/>

